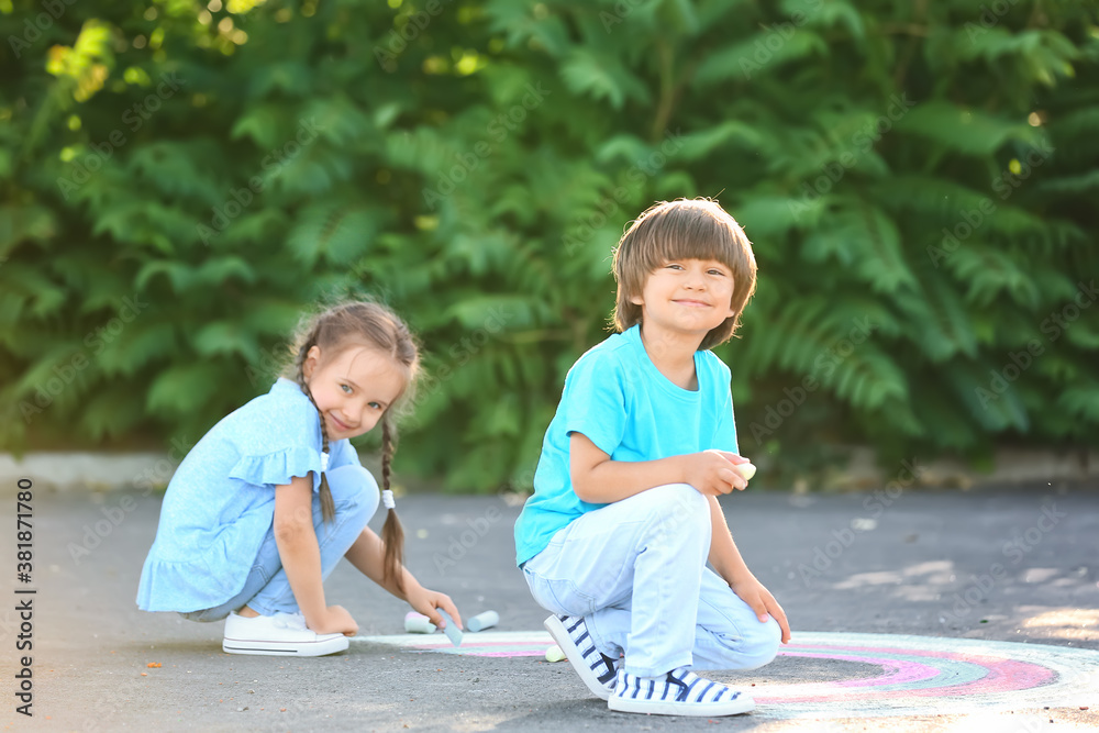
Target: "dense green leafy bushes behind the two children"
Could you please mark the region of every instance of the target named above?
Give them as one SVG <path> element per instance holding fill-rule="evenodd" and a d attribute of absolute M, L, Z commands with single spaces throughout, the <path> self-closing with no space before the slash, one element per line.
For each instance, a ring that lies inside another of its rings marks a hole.
<path fill-rule="evenodd" d="M 1099 437 L 1095 2 L 0 0 L 0 449 L 191 444 L 373 296 L 428 367 L 397 469 L 528 488 L 612 246 L 697 196 L 758 258 L 717 352 L 771 480 Z"/>

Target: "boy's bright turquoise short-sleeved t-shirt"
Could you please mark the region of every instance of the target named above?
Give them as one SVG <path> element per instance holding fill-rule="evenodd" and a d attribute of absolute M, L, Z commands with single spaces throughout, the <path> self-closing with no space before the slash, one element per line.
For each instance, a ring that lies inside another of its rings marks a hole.
<path fill-rule="evenodd" d="M 517 562 L 545 549 L 562 527 L 606 504 L 580 501 L 569 474 L 569 435 L 582 433 L 611 460 L 656 460 L 710 448 L 736 452 L 729 367 L 695 353 L 698 390 L 675 385 L 648 358 L 641 326 L 588 351 L 565 377 L 542 442 L 534 495 L 515 522 Z"/>

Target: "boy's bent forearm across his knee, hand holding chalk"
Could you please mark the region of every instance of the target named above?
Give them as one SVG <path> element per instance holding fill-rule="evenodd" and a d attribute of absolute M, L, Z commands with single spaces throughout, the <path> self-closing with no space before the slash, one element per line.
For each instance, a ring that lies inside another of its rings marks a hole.
<path fill-rule="evenodd" d="M 573 491 L 581 501 L 609 504 L 665 484 L 690 484 L 699 493 L 729 493 L 747 482 L 733 470 L 743 458 L 721 451 L 704 451 L 658 460 L 611 460 L 584 433 L 568 443 Z"/>

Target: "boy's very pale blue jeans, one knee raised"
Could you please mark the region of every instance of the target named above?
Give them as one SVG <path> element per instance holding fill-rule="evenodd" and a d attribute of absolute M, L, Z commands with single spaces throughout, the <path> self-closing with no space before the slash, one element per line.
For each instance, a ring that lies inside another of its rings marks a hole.
<path fill-rule="evenodd" d="M 658 486 L 574 520 L 523 574 L 542 608 L 584 617 L 596 648 L 625 654 L 632 675 L 762 667 L 781 629 L 706 567 L 710 526 L 706 497 Z"/>

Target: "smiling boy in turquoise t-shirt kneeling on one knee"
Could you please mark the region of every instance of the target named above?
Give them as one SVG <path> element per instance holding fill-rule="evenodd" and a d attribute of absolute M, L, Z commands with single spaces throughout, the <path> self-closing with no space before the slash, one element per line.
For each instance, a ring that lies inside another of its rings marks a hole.
<path fill-rule="evenodd" d="M 717 202 L 680 199 L 633 223 L 613 268 L 619 333 L 565 379 L 515 523 L 518 564 L 611 710 L 747 712 L 745 692 L 691 669 L 754 669 L 790 638 L 715 499 L 745 488 L 734 467 L 748 462 L 729 367 L 708 349 L 739 325 L 755 257 Z"/>

